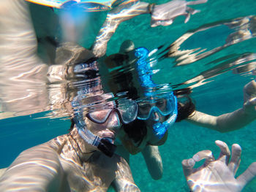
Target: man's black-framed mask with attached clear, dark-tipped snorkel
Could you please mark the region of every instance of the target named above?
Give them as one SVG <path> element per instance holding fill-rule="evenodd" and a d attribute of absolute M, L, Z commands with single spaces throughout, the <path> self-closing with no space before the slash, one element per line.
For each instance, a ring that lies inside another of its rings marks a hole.
<path fill-rule="evenodd" d="M 83 100 L 83 96 L 76 96 L 72 101 L 72 107 L 74 108 L 74 121 L 75 125 L 78 128 L 78 134 L 82 137 L 87 143 L 97 147 L 102 153 L 108 156 L 112 156 L 116 150 L 116 145 L 113 145 L 113 139 L 108 137 L 100 138 L 91 131 L 86 126 L 86 123 L 83 120 L 83 108 L 81 107 L 81 101 Z M 131 99 L 120 99 L 116 101 L 115 106 L 113 108 L 105 108 L 100 109 L 101 115 L 97 115 L 98 111 L 94 110 L 88 112 L 86 117 L 94 123 L 102 124 L 105 123 L 110 117 L 112 112 L 116 112 L 118 114 L 119 120 L 121 123 L 127 124 L 131 123 L 136 119 L 138 113 L 138 104 Z"/>

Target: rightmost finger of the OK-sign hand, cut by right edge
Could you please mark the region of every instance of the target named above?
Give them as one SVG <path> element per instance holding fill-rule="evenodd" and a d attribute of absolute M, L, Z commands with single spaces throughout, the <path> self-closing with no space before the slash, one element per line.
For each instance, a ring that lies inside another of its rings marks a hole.
<path fill-rule="evenodd" d="M 252 163 L 237 180 L 242 188 L 256 176 L 256 162 Z"/>

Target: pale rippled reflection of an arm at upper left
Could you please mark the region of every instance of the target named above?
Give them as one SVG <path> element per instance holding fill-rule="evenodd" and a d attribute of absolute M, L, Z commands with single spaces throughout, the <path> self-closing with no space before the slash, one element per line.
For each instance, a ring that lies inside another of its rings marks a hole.
<path fill-rule="evenodd" d="M 37 57 L 27 2 L 2 0 L 0 26 L 0 97 L 1 111 L 6 112 L 0 118 L 48 110 L 48 66 Z"/>

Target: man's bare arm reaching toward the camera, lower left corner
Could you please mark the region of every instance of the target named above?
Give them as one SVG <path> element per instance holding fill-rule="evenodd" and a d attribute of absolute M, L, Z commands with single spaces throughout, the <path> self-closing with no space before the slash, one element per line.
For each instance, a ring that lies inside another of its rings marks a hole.
<path fill-rule="evenodd" d="M 69 191 L 64 184 L 59 155 L 42 144 L 20 153 L 1 176 L 0 191 Z"/>

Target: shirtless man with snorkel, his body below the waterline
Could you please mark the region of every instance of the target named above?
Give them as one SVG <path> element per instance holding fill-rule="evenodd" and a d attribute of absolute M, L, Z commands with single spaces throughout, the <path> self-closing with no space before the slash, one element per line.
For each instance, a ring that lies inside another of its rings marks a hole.
<path fill-rule="evenodd" d="M 111 183 L 117 191 L 139 191 L 127 162 L 113 154 L 120 128 L 116 108 L 92 113 L 104 123 L 84 118 L 86 139 L 72 124 L 69 134 L 20 153 L 1 176 L 0 191 L 108 191 Z M 91 145 L 95 138 L 99 144 Z"/>

